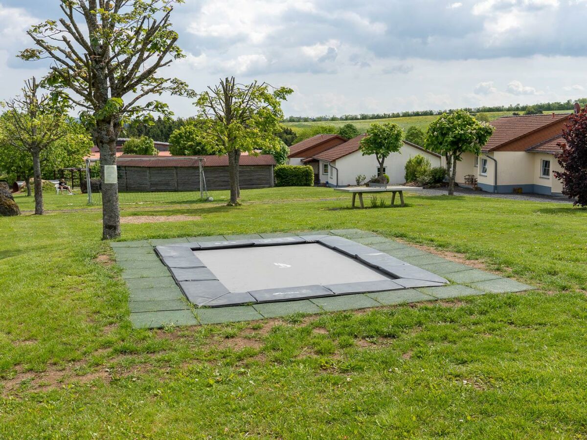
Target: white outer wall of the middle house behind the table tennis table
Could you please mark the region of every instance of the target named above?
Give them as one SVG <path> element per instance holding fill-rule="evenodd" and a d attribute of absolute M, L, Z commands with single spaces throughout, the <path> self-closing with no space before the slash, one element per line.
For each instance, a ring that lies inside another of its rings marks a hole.
<path fill-rule="evenodd" d="M 406 162 L 417 154 L 426 157 L 433 167 L 440 167 L 440 157 L 433 154 L 426 153 L 426 151 L 414 148 L 411 145 L 404 144 L 400 153 L 390 154 L 383 166 L 386 168 L 386 174 L 389 176 L 390 184 L 403 184 L 406 182 L 404 178 L 406 175 Z M 355 151 L 336 160 L 333 165 L 338 168 L 338 185 L 356 185 L 355 178 L 358 174 L 363 174 L 370 179 L 373 175 L 377 175 L 377 159 L 375 155 L 363 156 L 360 151 Z M 322 174 L 322 162 L 320 164 L 320 180 L 325 181 L 325 175 Z M 329 177 L 330 185 L 336 185 L 336 170 L 333 170 L 332 177 Z"/>

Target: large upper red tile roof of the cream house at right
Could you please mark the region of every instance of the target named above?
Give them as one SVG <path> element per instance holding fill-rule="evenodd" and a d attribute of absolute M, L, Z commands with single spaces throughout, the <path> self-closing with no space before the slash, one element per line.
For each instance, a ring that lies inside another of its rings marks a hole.
<path fill-rule="evenodd" d="M 494 150 L 508 142 L 532 133 L 532 131 L 557 123 L 568 116 L 568 114 L 555 114 L 554 117 L 552 117 L 552 114 L 502 116 L 491 121 L 490 124 L 495 127 L 495 131 L 488 143 L 484 145 L 483 151 Z"/>

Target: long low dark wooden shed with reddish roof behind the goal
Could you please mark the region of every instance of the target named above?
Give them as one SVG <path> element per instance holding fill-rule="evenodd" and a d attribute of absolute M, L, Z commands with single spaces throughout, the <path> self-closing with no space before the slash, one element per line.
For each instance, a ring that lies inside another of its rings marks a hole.
<path fill-rule="evenodd" d="M 228 189 L 228 156 L 153 157 L 122 155 L 117 159 L 121 192 L 199 191 L 200 163 L 208 191 Z M 241 155 L 241 189 L 274 186 L 275 159 L 270 154 Z"/>

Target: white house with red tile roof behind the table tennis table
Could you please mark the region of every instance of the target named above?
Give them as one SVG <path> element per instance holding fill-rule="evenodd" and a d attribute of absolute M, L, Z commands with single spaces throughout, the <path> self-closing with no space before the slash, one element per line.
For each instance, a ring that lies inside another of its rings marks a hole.
<path fill-rule="evenodd" d="M 375 155 L 363 156 L 359 150 L 360 141 L 365 136 L 365 134 L 359 134 L 359 136 L 348 141 L 333 143 L 328 148 L 325 148 L 323 144 L 319 148 L 315 148 L 315 146 L 307 147 L 310 150 L 298 150 L 296 148 L 294 153 L 290 153 L 289 158 L 291 160 L 295 156 L 305 156 L 301 159 L 301 164 L 312 165 L 316 183 L 326 184 L 329 187 L 356 185 L 357 175 L 365 175 L 369 179 L 377 175 L 379 168 Z M 295 147 L 295 145 L 292 145 L 292 147 Z M 311 151 L 312 154 L 309 154 L 308 151 Z M 426 157 L 433 167 L 440 167 L 440 154 L 424 150 L 419 145 L 404 141 L 402 149 L 398 153 L 390 154 L 385 160 L 384 172 L 389 176 L 390 183 L 401 184 L 406 181 L 404 178 L 406 162 L 417 154 Z"/>

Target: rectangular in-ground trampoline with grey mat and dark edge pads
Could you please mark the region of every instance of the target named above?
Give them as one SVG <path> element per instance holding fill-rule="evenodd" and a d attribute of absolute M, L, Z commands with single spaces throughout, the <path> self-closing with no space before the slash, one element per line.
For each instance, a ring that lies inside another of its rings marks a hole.
<path fill-rule="evenodd" d="M 198 307 L 442 286 L 446 279 L 333 235 L 160 245 L 157 255 Z"/>

